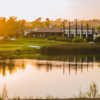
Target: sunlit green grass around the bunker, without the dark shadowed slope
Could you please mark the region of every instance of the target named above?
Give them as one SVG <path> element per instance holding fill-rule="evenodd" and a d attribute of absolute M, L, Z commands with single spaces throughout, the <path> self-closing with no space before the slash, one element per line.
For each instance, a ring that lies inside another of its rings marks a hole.
<path fill-rule="evenodd" d="M 66 44 L 65 42 L 52 41 L 47 39 L 26 39 L 0 41 L 0 57 L 3 58 L 41 58 L 40 48 L 29 46 L 50 46 L 54 44 Z"/>

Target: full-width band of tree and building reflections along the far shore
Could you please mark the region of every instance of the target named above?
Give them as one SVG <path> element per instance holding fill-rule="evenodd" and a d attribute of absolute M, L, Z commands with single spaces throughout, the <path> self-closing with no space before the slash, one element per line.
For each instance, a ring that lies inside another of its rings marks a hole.
<path fill-rule="evenodd" d="M 32 60 L 32 59 L 8 59 L 0 60 L 0 74 L 6 76 L 8 72 L 10 75 L 18 70 L 24 70 L 27 65 L 35 67 L 37 70 L 45 70 L 47 72 L 53 71 L 53 69 L 61 70 L 63 74 L 71 74 L 71 71 L 78 72 L 93 70 L 95 66 L 99 66 L 96 62 L 95 56 L 92 57 L 77 57 L 77 56 L 65 56 L 63 61 L 57 60 Z"/>

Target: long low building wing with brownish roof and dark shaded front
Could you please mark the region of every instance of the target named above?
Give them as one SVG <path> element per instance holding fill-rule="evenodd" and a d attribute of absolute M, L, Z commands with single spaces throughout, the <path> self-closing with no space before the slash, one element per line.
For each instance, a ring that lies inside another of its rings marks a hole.
<path fill-rule="evenodd" d="M 61 28 L 35 28 L 24 31 L 24 36 L 33 38 L 47 38 L 48 36 L 62 36 L 64 35 Z"/>

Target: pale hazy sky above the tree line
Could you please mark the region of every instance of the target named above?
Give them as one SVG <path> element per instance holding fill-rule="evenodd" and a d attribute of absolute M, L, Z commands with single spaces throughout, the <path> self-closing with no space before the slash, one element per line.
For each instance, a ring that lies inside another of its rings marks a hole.
<path fill-rule="evenodd" d="M 0 17 L 64 19 L 100 18 L 100 0 L 0 0 Z"/>

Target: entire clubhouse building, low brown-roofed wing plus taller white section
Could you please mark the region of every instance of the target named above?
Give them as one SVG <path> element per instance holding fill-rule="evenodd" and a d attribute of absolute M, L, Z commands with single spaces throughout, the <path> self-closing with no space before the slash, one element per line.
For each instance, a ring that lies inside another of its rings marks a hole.
<path fill-rule="evenodd" d="M 64 23 L 62 28 L 53 27 L 40 27 L 35 29 L 26 29 L 24 31 L 24 36 L 29 38 L 48 38 L 49 36 L 64 37 L 73 39 L 78 36 L 80 38 L 87 39 L 88 41 L 93 41 L 97 36 L 100 36 L 100 31 L 95 30 L 88 24 L 69 24 L 66 26 Z"/>

